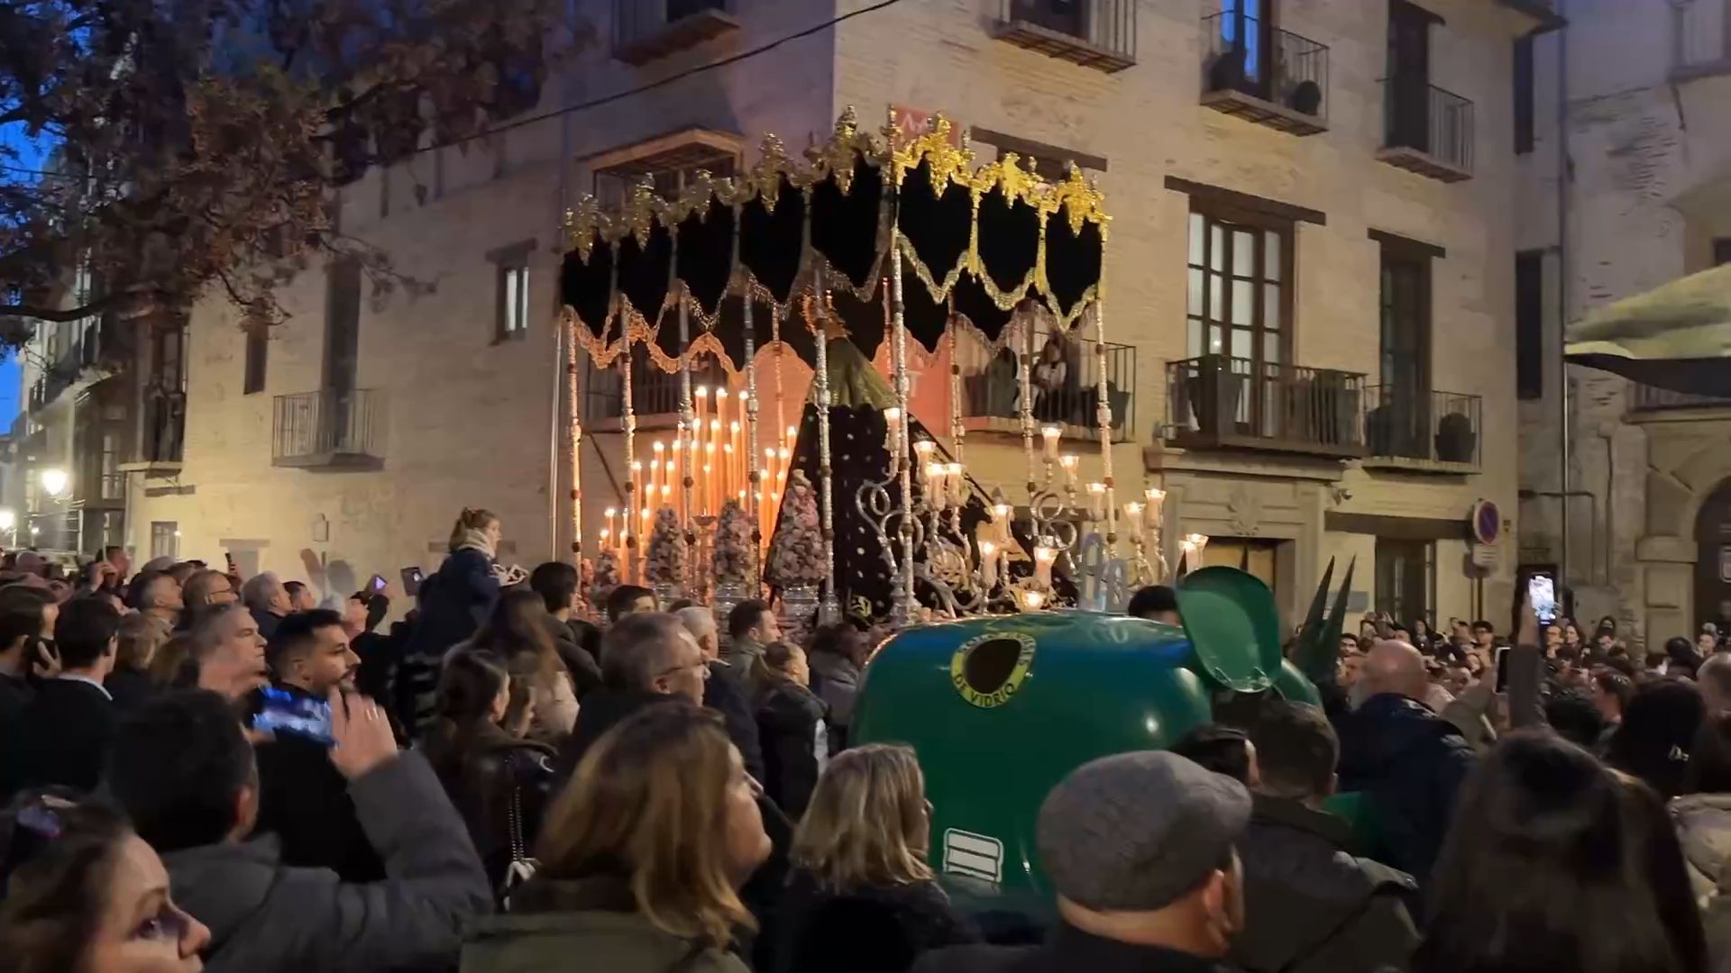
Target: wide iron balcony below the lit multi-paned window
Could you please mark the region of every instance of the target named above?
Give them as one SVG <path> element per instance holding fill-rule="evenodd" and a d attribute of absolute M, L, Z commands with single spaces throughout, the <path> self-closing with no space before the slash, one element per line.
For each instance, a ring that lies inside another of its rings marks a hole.
<path fill-rule="evenodd" d="M 1167 364 L 1175 447 L 1364 455 L 1364 376 L 1226 355 Z"/>

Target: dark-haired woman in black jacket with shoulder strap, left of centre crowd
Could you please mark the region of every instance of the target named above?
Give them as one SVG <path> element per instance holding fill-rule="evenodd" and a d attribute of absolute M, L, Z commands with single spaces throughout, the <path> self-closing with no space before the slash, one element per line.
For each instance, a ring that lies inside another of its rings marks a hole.
<path fill-rule="evenodd" d="M 511 673 L 493 653 L 457 649 L 445 658 L 434 722 L 422 753 L 469 826 L 486 874 L 502 883 L 535 841 L 552 788 L 552 748 L 523 739 L 530 713 L 512 712 Z"/>

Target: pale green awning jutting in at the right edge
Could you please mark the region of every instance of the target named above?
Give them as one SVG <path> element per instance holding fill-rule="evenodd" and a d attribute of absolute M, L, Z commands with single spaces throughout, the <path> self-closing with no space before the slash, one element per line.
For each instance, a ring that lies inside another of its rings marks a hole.
<path fill-rule="evenodd" d="M 1568 325 L 1563 355 L 1670 391 L 1731 393 L 1731 265 L 1594 308 Z"/>

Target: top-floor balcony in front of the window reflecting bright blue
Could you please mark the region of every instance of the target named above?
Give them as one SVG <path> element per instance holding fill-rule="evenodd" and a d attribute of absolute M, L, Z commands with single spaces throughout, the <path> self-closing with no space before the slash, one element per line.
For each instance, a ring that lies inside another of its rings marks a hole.
<path fill-rule="evenodd" d="M 1328 47 L 1257 17 L 1205 17 L 1201 104 L 1293 135 L 1328 132 Z"/>

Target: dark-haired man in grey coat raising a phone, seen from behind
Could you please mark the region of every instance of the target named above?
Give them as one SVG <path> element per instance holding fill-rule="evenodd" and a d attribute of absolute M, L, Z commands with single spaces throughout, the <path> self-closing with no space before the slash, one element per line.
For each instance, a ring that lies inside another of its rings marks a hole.
<path fill-rule="evenodd" d="M 123 724 L 109 789 L 163 855 L 175 902 L 211 928 L 208 973 L 455 968 L 464 926 L 492 909 L 462 819 L 426 760 L 398 753 L 384 713 L 336 699 L 331 734 L 320 757 L 377 836 L 388 880 L 343 883 L 248 841 L 254 750 L 220 696 L 171 693 Z"/>

